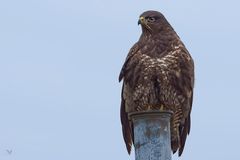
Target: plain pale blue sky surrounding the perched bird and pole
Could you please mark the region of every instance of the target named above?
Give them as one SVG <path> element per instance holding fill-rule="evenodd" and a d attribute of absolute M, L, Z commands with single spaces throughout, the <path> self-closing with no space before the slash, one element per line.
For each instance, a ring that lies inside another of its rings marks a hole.
<path fill-rule="evenodd" d="M 166 16 L 195 60 L 192 128 L 180 159 L 237 159 L 239 6 L 238 0 L 0 1 L 0 159 L 134 159 L 122 139 L 118 74 L 141 34 L 138 17 L 149 9 Z"/>

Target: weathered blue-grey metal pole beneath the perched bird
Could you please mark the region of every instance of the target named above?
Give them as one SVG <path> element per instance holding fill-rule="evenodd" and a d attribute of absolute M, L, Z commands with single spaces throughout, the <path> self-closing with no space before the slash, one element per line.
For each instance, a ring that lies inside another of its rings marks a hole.
<path fill-rule="evenodd" d="M 134 128 L 135 160 L 171 160 L 171 112 L 130 113 Z"/>

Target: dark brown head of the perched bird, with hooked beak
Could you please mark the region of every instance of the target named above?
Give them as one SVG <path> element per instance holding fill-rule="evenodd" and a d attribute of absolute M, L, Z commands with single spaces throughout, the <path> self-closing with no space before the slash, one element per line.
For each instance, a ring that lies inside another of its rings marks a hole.
<path fill-rule="evenodd" d="M 139 17 L 138 24 L 141 24 L 143 32 L 157 33 L 167 29 L 169 23 L 158 11 L 146 11 Z"/>

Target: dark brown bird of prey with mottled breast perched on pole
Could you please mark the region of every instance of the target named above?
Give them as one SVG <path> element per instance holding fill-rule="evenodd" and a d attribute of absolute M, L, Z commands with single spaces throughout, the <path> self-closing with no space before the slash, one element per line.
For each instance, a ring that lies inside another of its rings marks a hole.
<path fill-rule="evenodd" d="M 168 110 L 171 148 L 181 156 L 190 132 L 194 63 L 166 18 L 157 11 L 139 17 L 142 34 L 130 49 L 119 75 L 123 80 L 121 123 L 130 154 L 133 143 L 131 112 Z"/>

